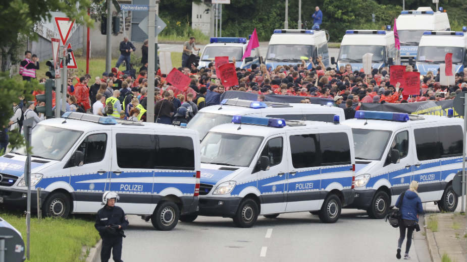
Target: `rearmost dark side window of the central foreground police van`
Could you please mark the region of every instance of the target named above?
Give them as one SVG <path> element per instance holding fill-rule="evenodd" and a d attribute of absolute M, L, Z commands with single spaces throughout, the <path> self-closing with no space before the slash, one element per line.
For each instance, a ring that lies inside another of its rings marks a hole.
<path fill-rule="evenodd" d="M 350 146 L 345 133 L 320 134 L 321 165 L 351 164 Z"/>

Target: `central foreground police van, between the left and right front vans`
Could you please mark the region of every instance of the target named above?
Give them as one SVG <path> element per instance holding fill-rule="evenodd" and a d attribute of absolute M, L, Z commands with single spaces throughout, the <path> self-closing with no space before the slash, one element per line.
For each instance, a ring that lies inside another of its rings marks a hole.
<path fill-rule="evenodd" d="M 313 212 L 334 223 L 354 196 L 352 144 L 338 115 L 335 123 L 235 115 L 201 142 L 197 215 L 251 227 L 258 215 Z"/>

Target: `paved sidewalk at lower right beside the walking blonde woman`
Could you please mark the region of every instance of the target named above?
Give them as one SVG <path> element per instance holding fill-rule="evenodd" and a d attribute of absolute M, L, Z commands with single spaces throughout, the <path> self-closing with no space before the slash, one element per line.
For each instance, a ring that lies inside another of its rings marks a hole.
<path fill-rule="evenodd" d="M 460 213 L 427 213 L 425 227 L 428 249 L 433 262 L 466 261 L 466 218 Z M 447 255 L 450 260 L 441 260 Z"/>

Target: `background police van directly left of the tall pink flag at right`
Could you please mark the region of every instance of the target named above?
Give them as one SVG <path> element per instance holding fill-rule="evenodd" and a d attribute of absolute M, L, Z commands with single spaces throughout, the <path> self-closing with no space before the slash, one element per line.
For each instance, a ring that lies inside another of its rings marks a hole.
<path fill-rule="evenodd" d="M 345 31 L 337 57 L 337 68 L 350 64 L 353 71 L 362 69 L 362 56 L 366 53 L 373 54 L 372 68 L 380 69 L 393 64 L 397 58 L 394 32 L 385 30 Z"/>

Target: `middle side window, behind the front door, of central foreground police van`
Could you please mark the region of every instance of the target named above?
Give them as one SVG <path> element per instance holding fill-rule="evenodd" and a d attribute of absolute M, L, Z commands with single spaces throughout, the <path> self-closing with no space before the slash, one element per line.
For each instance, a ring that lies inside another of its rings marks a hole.
<path fill-rule="evenodd" d="M 318 146 L 319 137 L 316 134 L 290 136 L 290 153 L 292 154 L 293 167 L 319 166 Z"/>

